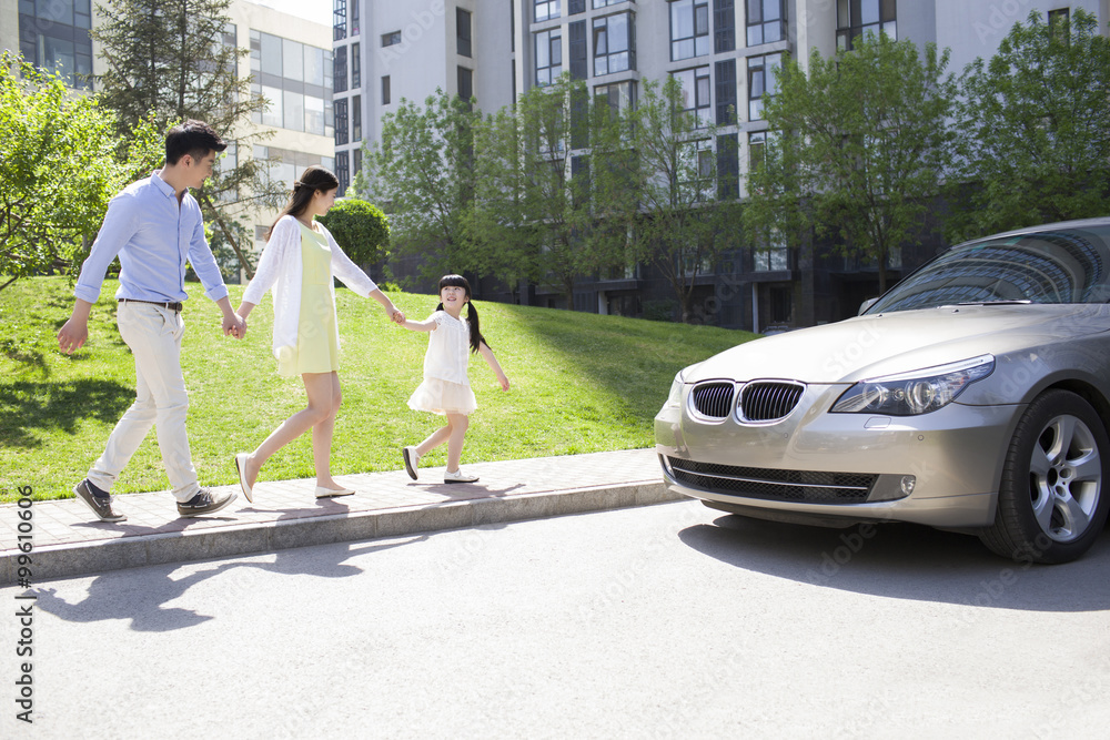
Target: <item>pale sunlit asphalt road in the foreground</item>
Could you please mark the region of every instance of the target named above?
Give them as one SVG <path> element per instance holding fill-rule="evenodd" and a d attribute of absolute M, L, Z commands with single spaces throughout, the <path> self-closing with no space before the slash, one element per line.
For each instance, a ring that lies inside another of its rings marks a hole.
<path fill-rule="evenodd" d="M 37 585 L 0 737 L 1094 738 L 1110 533 L 1021 567 L 697 503 Z"/>

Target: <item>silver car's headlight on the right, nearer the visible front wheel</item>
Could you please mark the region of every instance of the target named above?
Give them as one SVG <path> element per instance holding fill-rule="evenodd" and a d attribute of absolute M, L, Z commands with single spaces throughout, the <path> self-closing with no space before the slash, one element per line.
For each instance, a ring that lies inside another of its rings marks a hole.
<path fill-rule="evenodd" d="M 835 414 L 915 416 L 944 408 L 995 369 L 993 355 L 860 381 L 833 404 Z"/>

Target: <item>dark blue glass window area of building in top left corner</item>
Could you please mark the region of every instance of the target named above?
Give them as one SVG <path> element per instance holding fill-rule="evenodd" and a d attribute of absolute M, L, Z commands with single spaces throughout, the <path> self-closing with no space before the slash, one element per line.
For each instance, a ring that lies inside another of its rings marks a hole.
<path fill-rule="evenodd" d="M 92 40 L 89 38 L 91 26 L 91 0 L 67 2 L 20 0 L 20 53 L 24 60 L 40 70 L 61 77 L 70 88 L 90 90 L 92 89 Z"/>

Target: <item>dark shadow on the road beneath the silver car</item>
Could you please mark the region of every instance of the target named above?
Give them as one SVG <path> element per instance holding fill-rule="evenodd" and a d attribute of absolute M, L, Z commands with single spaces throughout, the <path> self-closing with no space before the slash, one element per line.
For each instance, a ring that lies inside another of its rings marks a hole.
<path fill-rule="evenodd" d="M 1110 531 L 1081 559 L 1058 566 L 1013 562 L 975 537 L 909 524 L 825 529 L 728 515 L 678 536 L 738 568 L 858 594 L 1029 611 L 1110 610 Z"/>

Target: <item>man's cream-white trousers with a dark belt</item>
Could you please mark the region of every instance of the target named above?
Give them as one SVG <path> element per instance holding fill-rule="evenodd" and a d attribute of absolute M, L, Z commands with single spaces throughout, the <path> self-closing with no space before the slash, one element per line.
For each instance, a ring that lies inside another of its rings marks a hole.
<path fill-rule="evenodd" d="M 181 374 L 181 314 L 151 303 L 121 303 L 117 312 L 120 335 L 135 358 L 135 402 L 108 438 L 104 454 L 89 470 L 89 480 L 110 490 L 115 478 L 147 437 L 158 427 L 158 446 L 173 497 L 188 501 L 200 490 L 189 454 L 185 415 L 189 394 Z"/>

